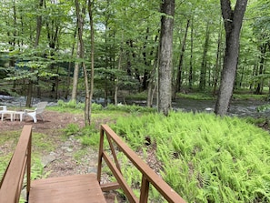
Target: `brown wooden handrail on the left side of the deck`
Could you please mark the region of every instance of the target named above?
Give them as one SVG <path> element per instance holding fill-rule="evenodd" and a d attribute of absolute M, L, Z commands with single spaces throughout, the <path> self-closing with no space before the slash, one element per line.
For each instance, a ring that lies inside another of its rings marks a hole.
<path fill-rule="evenodd" d="M 28 198 L 30 190 L 30 170 L 31 170 L 31 140 L 32 126 L 27 125 L 23 128 L 17 147 L 8 167 L 5 169 L 4 176 L 0 183 L 0 202 L 17 203 L 23 186 L 25 168 L 26 171 L 26 195 Z"/>

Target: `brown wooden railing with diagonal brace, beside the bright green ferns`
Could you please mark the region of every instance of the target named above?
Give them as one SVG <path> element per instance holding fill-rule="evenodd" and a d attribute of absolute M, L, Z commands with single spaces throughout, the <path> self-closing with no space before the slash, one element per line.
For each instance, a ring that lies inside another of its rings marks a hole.
<path fill-rule="evenodd" d="M 141 194 L 140 199 L 135 197 L 134 192 L 130 187 L 127 186 L 125 178 L 123 178 L 120 165 L 115 159 L 112 159 L 105 153 L 104 140 L 105 135 L 109 141 L 110 150 L 112 151 L 113 157 L 115 158 L 115 149 L 111 144 L 114 141 L 116 146 L 125 154 L 126 157 L 134 164 L 134 166 L 142 173 L 142 183 L 141 183 Z M 102 160 L 105 159 L 107 166 L 113 172 L 117 183 L 111 184 L 111 187 L 101 184 L 101 188 L 115 189 L 122 188 L 125 192 L 126 197 L 129 202 L 140 202 L 146 203 L 148 199 L 149 184 L 152 184 L 157 191 L 168 201 L 172 203 L 184 203 L 185 200 L 181 198 L 173 188 L 171 188 L 165 181 L 160 178 L 155 171 L 149 167 L 140 157 L 138 157 L 135 152 L 128 147 L 120 137 L 118 137 L 115 132 L 107 125 L 102 125 L 100 129 L 100 143 L 99 143 L 99 154 L 98 154 L 98 166 L 97 166 L 97 180 L 100 182 L 102 174 Z M 116 166 L 114 166 L 114 163 Z"/>

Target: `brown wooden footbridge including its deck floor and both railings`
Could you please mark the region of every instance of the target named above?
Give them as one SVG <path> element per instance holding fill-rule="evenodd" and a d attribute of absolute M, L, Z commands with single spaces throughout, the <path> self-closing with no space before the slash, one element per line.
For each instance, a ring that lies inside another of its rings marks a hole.
<path fill-rule="evenodd" d="M 109 143 L 110 154 L 104 148 L 105 138 Z M 27 125 L 23 128 L 14 155 L 0 182 L 1 203 L 19 202 L 22 188 L 26 188 L 25 198 L 29 203 L 102 203 L 106 202 L 103 192 L 118 188 L 123 189 L 128 202 L 146 203 L 150 184 L 168 202 L 185 202 L 107 125 L 102 125 L 100 129 L 97 175 L 85 174 L 31 180 L 31 142 L 32 126 Z M 135 196 L 122 175 L 115 147 L 121 150 L 142 174 L 139 198 Z M 115 176 L 115 182 L 100 184 L 103 160 Z"/>

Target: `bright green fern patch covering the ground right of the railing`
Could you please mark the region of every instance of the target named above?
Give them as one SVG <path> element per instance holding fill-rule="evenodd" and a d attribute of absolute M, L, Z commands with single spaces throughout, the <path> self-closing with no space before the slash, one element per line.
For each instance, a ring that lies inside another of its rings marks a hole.
<path fill-rule="evenodd" d="M 171 112 L 119 117 L 111 127 L 135 151 L 155 145 L 159 173 L 187 202 L 270 201 L 270 137 L 245 120 Z M 138 172 L 126 166 L 125 177 L 136 186 Z"/>

